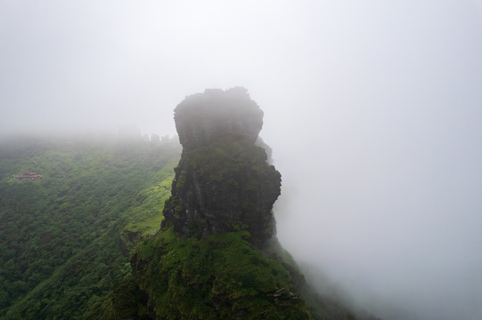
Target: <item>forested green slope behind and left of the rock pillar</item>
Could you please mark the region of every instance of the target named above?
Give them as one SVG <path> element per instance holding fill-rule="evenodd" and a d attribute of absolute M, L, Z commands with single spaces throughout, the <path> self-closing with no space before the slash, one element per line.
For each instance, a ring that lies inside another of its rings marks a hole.
<path fill-rule="evenodd" d="M 0 318 L 102 317 L 136 240 L 159 228 L 179 156 L 177 140 L 1 140 Z"/>

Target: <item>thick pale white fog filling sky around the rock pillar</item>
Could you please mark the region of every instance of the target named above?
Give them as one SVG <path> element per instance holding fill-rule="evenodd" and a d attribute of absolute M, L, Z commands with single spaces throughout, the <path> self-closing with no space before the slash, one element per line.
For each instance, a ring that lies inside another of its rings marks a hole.
<path fill-rule="evenodd" d="M 0 2 L 0 133 L 135 127 L 245 86 L 278 236 L 384 319 L 482 318 L 482 1 Z"/>

